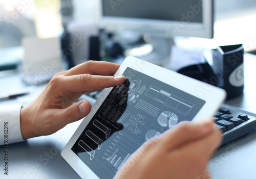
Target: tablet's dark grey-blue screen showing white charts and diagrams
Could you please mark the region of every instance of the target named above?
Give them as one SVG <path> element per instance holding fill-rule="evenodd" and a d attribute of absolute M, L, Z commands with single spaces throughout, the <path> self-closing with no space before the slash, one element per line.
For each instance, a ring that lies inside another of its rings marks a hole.
<path fill-rule="evenodd" d="M 111 90 L 72 147 L 99 178 L 113 178 L 145 141 L 190 121 L 205 104 L 132 68 L 123 75 L 125 82 Z"/>

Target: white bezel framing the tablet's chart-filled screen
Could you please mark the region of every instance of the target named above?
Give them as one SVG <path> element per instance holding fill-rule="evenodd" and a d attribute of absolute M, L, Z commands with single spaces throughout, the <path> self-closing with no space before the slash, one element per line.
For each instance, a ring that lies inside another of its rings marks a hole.
<path fill-rule="evenodd" d="M 194 117 L 193 121 L 203 118 L 209 118 L 214 115 L 214 113 L 218 110 L 226 97 L 226 92 L 221 88 L 200 82 L 195 79 L 191 79 L 177 72 L 170 71 L 168 69 L 145 62 L 132 56 L 127 57 L 123 61 L 123 63 L 115 73 L 115 76 L 122 75 L 127 67 L 142 72 L 156 80 L 159 80 L 195 97 L 205 100 L 204 106 Z M 81 159 L 72 151 L 71 148 L 75 144 L 83 130 L 86 128 L 90 120 L 93 118 L 94 114 L 97 112 L 97 110 L 99 109 L 104 99 L 106 98 L 106 96 L 108 96 L 111 90 L 112 88 L 107 88 L 102 91 L 100 97 L 93 105 L 91 112 L 83 119 L 74 135 L 71 137 L 67 145 L 61 151 L 61 156 L 63 157 L 63 159 L 67 161 L 67 163 L 74 169 L 75 172 L 77 172 L 77 174 L 81 178 L 99 177 L 85 163 L 81 161 Z"/>

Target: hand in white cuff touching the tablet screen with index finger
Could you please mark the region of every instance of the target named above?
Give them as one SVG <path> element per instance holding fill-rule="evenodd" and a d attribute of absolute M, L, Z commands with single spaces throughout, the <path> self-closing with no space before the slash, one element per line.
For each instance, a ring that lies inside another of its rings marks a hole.
<path fill-rule="evenodd" d="M 24 139 L 50 135 L 88 115 L 87 100 L 74 103 L 82 94 L 120 85 L 124 76 L 112 76 L 120 65 L 88 61 L 57 73 L 41 94 L 20 111 Z"/>

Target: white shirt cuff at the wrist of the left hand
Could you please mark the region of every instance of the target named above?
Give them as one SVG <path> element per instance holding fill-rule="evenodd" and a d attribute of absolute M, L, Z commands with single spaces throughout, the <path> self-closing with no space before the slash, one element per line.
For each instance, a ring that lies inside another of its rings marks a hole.
<path fill-rule="evenodd" d="M 21 108 L 22 105 L 0 106 L 0 145 L 24 141 L 20 130 Z"/>

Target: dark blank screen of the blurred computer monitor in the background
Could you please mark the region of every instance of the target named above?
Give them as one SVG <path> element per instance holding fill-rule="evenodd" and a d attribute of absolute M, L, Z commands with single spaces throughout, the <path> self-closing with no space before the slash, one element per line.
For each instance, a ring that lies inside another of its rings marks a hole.
<path fill-rule="evenodd" d="M 202 23 L 202 0 L 102 0 L 103 16 Z"/>

